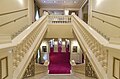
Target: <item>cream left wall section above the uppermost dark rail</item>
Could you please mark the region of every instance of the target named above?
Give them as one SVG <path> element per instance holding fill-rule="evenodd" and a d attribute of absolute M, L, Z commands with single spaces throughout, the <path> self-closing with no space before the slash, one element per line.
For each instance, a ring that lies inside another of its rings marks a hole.
<path fill-rule="evenodd" d="M 6 13 L 15 10 L 25 9 L 28 7 L 28 0 L 1 0 L 0 12 Z"/>

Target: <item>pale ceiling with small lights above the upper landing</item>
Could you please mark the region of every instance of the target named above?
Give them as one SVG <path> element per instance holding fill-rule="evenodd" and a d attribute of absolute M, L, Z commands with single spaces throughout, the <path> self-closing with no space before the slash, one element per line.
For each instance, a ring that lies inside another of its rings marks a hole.
<path fill-rule="evenodd" d="M 41 8 L 80 8 L 85 0 L 36 0 Z"/>

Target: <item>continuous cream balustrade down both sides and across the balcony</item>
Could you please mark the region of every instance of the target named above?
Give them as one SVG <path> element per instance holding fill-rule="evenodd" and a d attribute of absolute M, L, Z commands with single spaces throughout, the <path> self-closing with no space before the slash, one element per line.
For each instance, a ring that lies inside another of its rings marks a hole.
<path fill-rule="evenodd" d="M 96 70 L 101 74 L 101 79 L 107 79 L 106 74 L 108 74 L 108 64 L 110 64 L 108 55 L 110 55 L 110 51 L 116 51 L 116 48 L 118 52 L 118 50 L 120 50 L 120 46 L 109 44 L 108 40 L 104 39 L 95 30 L 80 20 L 75 14 L 67 16 L 45 14 L 40 20 L 16 36 L 12 40 L 12 43 L 0 45 L 0 50 L 12 48 L 11 54 L 13 62 L 13 74 L 15 74 L 14 78 L 19 79 L 17 76 L 19 76 L 21 73 L 19 72 L 19 74 L 16 74 L 15 72 L 20 71 L 19 67 L 21 67 L 21 62 L 25 61 L 24 58 L 26 56 L 26 58 L 29 58 L 28 55 L 31 55 L 29 53 L 34 51 L 35 44 L 37 44 L 38 40 L 40 40 L 38 39 L 36 41 L 36 39 L 43 38 L 43 35 L 47 29 L 47 24 L 73 24 L 73 31 L 79 39 L 78 41 L 82 41 L 81 44 L 86 49 L 86 54 L 90 59 L 90 62 L 93 62 L 91 64 L 98 68 Z"/>

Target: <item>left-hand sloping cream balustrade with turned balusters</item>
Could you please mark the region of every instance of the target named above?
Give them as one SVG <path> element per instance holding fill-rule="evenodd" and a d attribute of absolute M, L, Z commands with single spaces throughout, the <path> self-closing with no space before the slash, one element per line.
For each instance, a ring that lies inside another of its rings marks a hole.
<path fill-rule="evenodd" d="M 14 70 L 19 66 L 23 57 L 26 56 L 28 53 L 33 53 L 33 50 L 35 47 L 32 47 L 34 43 L 38 44 L 38 41 L 43 38 L 43 35 L 45 34 L 45 31 L 47 29 L 45 23 L 47 22 L 47 15 L 44 15 L 41 20 L 38 20 L 38 22 L 35 23 L 33 26 L 34 29 L 31 30 L 31 32 L 19 43 L 14 49 L 14 56 L 13 56 L 13 67 Z M 29 30 L 29 28 L 28 28 Z M 41 37 L 39 37 L 40 35 Z M 37 38 L 40 38 L 39 40 L 36 41 Z M 36 45 L 34 45 L 36 46 Z M 30 51 L 30 49 L 32 49 Z M 24 66 L 23 66 L 24 67 Z M 16 71 L 15 71 L 16 72 Z"/>

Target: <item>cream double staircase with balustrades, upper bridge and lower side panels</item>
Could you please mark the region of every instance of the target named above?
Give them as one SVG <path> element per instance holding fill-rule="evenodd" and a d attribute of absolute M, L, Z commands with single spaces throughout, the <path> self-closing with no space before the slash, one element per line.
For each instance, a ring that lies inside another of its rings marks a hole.
<path fill-rule="evenodd" d="M 16 36 L 10 43 L 0 44 L 1 79 L 21 79 L 33 58 L 48 24 L 72 24 L 72 29 L 88 57 L 98 79 L 118 77 L 120 64 L 120 45 L 111 44 L 74 13 L 72 15 L 48 15 L 45 13 L 38 21 Z M 1 66 L 1 65 L 4 65 Z"/>

